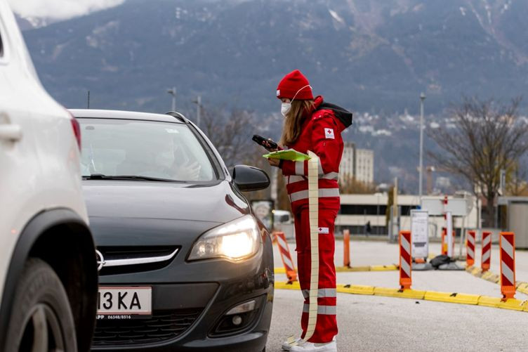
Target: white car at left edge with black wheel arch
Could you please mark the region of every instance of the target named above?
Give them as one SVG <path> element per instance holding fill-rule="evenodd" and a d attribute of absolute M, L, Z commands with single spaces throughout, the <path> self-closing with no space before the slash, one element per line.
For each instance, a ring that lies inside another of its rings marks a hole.
<path fill-rule="evenodd" d="M 0 0 L 0 351 L 90 348 L 98 276 L 80 143 Z"/>

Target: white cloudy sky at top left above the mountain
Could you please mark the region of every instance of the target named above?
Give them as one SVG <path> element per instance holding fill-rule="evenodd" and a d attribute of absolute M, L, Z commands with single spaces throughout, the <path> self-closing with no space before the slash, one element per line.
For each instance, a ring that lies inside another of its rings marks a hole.
<path fill-rule="evenodd" d="M 22 17 L 67 19 L 122 4 L 124 0 L 8 0 Z"/>

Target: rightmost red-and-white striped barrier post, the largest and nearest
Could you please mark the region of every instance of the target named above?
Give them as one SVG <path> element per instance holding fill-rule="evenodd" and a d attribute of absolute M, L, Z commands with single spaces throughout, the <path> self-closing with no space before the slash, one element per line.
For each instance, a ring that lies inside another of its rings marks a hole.
<path fill-rule="evenodd" d="M 515 296 L 515 234 L 501 233 L 501 294 L 503 299 Z"/>

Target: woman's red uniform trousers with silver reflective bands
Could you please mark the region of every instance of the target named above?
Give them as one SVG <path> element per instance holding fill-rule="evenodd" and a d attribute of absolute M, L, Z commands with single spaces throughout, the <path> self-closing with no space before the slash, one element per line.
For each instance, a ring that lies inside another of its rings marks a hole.
<path fill-rule="evenodd" d="M 308 341 L 330 342 L 337 334 L 336 321 L 336 268 L 334 266 L 334 223 L 338 209 L 319 207 L 319 287 L 317 294 L 317 323 L 315 332 Z M 308 206 L 294 209 L 298 278 L 303 291 L 304 306 L 301 318 L 302 338 L 308 327 L 310 304 L 310 274 L 312 251 L 310 249 L 310 219 Z"/>

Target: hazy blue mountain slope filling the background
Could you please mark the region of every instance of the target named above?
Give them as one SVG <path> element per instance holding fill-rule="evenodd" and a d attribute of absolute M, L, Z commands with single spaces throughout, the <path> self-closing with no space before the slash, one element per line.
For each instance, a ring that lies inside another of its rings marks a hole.
<path fill-rule="evenodd" d="M 24 34 L 67 107 L 86 106 L 89 90 L 92 107 L 165 111 L 176 86 L 190 115 L 201 94 L 265 117 L 299 68 L 315 93 L 357 112 L 345 138 L 376 151 L 376 179 L 407 170 L 414 188 L 419 93 L 433 128 L 463 95 L 522 95 L 527 14 L 524 0 L 126 0 Z"/>

